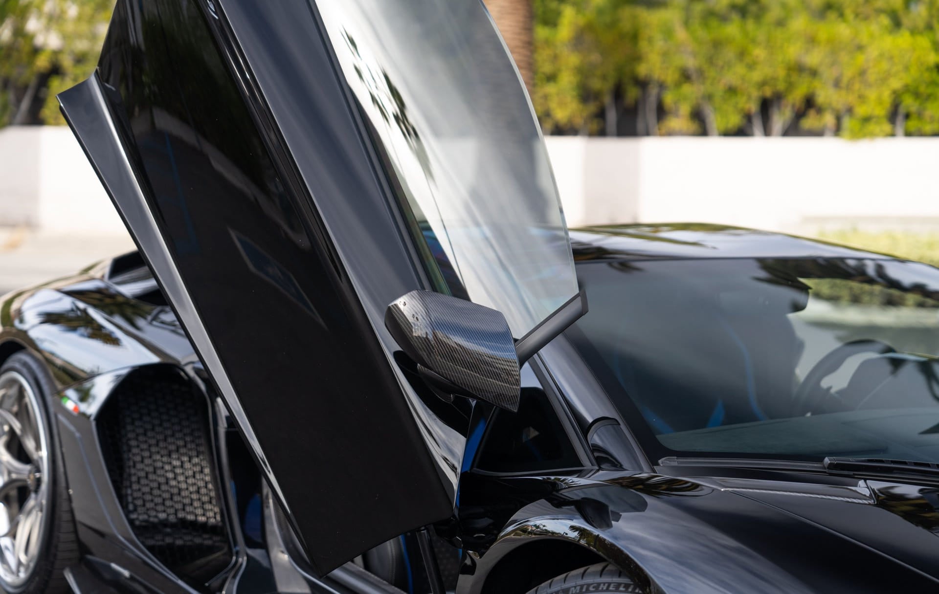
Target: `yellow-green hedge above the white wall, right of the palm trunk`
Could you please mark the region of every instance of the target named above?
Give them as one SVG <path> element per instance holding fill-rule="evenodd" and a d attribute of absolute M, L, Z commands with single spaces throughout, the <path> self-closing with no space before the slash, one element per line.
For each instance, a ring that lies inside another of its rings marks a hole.
<path fill-rule="evenodd" d="M 546 130 L 939 133 L 939 0 L 535 0 Z M 615 99 L 616 105 L 609 102 Z"/>

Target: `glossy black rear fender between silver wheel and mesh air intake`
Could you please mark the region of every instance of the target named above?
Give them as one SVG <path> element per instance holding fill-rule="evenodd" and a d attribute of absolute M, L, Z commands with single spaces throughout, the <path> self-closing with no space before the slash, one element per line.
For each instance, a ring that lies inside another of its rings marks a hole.
<path fill-rule="evenodd" d="M 134 370 L 184 373 L 198 384 L 198 362 L 173 312 L 132 297 L 140 297 L 133 287 L 105 280 L 109 267 L 103 263 L 75 277 L 4 296 L 0 345 L 4 357 L 19 348 L 45 361 L 60 390 L 49 405 L 57 419 L 75 528 L 88 558 L 107 558 L 104 566 L 114 563 L 130 571 L 128 585 L 133 587 L 192 592 L 133 535 L 103 465 L 95 417 Z"/>

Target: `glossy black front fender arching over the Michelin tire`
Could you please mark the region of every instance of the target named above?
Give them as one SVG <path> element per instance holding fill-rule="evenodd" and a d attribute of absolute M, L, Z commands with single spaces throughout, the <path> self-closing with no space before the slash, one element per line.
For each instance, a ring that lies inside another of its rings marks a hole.
<path fill-rule="evenodd" d="M 542 489 L 555 481 L 555 490 L 509 520 L 477 560 L 465 594 L 482 591 L 508 553 L 544 539 L 587 547 L 635 578 L 647 577 L 650 592 L 931 591 L 937 585 L 864 543 L 693 480 L 602 472 L 590 480 L 517 481 L 524 480 Z"/>

